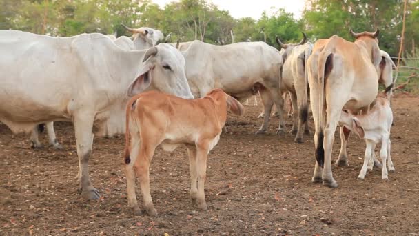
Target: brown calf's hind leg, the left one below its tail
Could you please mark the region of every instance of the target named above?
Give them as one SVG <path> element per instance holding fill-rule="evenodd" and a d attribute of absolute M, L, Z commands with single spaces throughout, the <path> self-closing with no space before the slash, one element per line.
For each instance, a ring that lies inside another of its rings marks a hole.
<path fill-rule="evenodd" d="M 131 150 L 130 150 L 130 163 L 125 164 L 125 176 L 127 177 L 127 201 L 128 207 L 132 208 L 134 215 L 141 215 L 138 201 L 136 200 L 135 193 L 135 173 L 134 164 L 136 158 L 139 156 L 140 141 L 137 133 L 131 133 Z"/>

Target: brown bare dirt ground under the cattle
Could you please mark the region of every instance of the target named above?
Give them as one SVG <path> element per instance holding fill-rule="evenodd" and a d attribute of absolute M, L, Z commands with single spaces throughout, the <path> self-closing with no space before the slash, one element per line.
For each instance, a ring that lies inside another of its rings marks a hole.
<path fill-rule="evenodd" d="M 133 216 L 127 208 L 122 136 L 94 139 L 90 175 L 103 197 L 85 201 L 77 193 L 70 123 L 55 126 L 61 151 L 32 150 L 29 135 L 12 135 L 1 124 L 0 235 L 419 235 L 419 97 L 394 99 L 396 172 L 389 180 L 382 181 L 377 168 L 357 179 L 365 144 L 351 136 L 349 166 L 333 166 L 335 189 L 311 183 L 311 136 L 304 144 L 295 144 L 294 135 L 278 137 L 276 118 L 267 135 L 254 135 L 260 107 L 246 108 L 244 117 L 229 117 L 229 131 L 210 153 L 207 212 L 191 204 L 185 148 L 156 151 L 151 190 L 157 217 Z M 291 123 L 287 119 L 287 130 Z M 41 143 L 48 143 L 45 134 Z M 339 144 L 336 132 L 333 161 Z"/>

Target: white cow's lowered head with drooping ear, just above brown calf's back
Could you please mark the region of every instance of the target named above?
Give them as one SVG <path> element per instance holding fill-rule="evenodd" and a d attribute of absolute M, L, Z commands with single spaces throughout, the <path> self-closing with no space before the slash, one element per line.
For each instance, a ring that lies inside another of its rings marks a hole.
<path fill-rule="evenodd" d="M 185 59 L 181 52 L 168 44 L 161 43 L 149 48 L 136 79 L 127 90 L 132 97 L 145 90 L 159 90 L 185 99 L 193 99 L 185 75 Z"/>

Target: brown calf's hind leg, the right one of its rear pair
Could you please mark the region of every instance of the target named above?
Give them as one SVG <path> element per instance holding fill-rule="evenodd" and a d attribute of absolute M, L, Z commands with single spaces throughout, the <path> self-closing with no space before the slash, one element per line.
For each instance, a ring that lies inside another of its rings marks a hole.
<path fill-rule="evenodd" d="M 147 143 L 149 143 L 147 141 Z M 140 153 L 134 164 L 136 175 L 140 179 L 141 193 L 143 193 L 143 206 L 147 214 L 150 216 L 157 215 L 157 210 L 154 208 L 152 195 L 150 193 L 150 162 L 152 161 L 155 146 L 147 144 L 146 141 L 141 141 Z"/>

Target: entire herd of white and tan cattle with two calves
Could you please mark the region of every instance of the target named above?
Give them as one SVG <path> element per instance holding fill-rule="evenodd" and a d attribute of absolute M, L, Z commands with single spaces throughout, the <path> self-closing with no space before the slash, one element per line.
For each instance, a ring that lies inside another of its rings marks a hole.
<path fill-rule="evenodd" d="M 337 187 L 331 173 L 334 133 L 340 126 L 341 148 L 336 164 L 347 165 L 346 142 L 351 132 L 365 139 L 367 168 L 382 168 L 382 179 L 394 170 L 389 138 L 393 115 L 391 89 L 394 63 L 378 46 L 379 31 L 355 33 L 354 42 L 337 35 L 307 42 L 283 43 L 281 50 L 263 42 L 216 46 L 202 41 L 159 43 L 163 33 L 130 28 L 132 37 L 99 33 L 50 37 L 0 30 L 0 121 L 12 132 L 32 132 L 39 148 L 39 128 L 45 124 L 50 145 L 60 149 L 53 121 L 72 121 L 79 157 L 79 190 L 98 199 L 90 183 L 88 161 L 92 128 L 99 137 L 125 133 L 123 169 L 127 202 L 141 213 L 135 194 L 139 177 L 143 208 L 156 215 L 150 194 L 150 161 L 157 146 L 172 151 L 184 144 L 190 159 L 190 197 L 207 209 L 204 181 L 207 155 L 218 143 L 227 111 L 242 115 L 241 102 L 260 95 L 267 132 L 275 105 L 278 134 L 283 134 L 283 95 L 289 94 L 294 114 L 295 142 L 310 134 L 314 119 L 313 182 Z M 167 38 L 166 38 L 167 39 Z M 385 98 L 377 98 L 378 84 Z M 311 109 L 310 109 L 311 108 Z M 374 148 L 381 144 L 380 159 Z M 296 144 L 303 145 L 303 144 Z"/>

